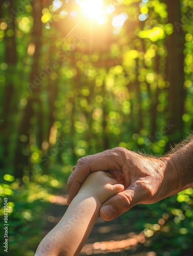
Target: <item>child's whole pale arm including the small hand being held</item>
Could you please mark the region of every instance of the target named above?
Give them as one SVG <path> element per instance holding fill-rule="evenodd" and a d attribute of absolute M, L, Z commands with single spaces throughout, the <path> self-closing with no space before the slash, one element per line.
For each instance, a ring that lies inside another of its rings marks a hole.
<path fill-rule="evenodd" d="M 103 202 L 124 190 L 111 175 L 95 172 L 84 181 L 59 223 L 39 244 L 35 256 L 76 256 L 87 240 Z"/>

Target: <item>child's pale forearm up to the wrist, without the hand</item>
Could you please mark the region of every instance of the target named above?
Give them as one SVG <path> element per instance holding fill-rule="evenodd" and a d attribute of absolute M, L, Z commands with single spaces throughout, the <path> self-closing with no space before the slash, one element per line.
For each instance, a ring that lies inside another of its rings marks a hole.
<path fill-rule="evenodd" d="M 100 206 L 100 200 L 93 196 L 77 194 L 59 223 L 41 241 L 35 256 L 78 255 L 98 218 Z"/>

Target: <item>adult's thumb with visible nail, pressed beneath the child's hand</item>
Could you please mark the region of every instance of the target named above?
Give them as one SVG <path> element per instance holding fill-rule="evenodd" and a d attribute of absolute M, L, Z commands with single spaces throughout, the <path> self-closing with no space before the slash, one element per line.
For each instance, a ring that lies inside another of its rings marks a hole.
<path fill-rule="evenodd" d="M 105 221 L 111 221 L 130 210 L 133 206 L 140 203 L 140 197 L 133 187 L 114 195 L 107 200 L 100 208 L 100 216 Z"/>

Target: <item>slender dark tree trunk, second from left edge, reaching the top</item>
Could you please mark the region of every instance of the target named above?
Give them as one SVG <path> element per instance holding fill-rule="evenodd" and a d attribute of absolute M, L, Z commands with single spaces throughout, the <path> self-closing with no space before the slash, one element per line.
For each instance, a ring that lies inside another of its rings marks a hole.
<path fill-rule="evenodd" d="M 40 56 L 40 49 L 41 49 L 41 5 L 39 1 L 32 2 L 33 12 L 34 12 L 34 27 L 32 32 L 32 40 L 35 45 L 35 52 L 33 56 L 33 64 L 30 73 L 29 82 L 30 84 L 34 84 L 34 76 L 38 76 L 38 64 L 39 64 L 39 56 Z M 15 152 L 15 177 L 21 178 L 23 176 L 23 168 L 25 166 L 29 166 L 29 156 L 23 154 L 23 151 L 28 148 L 28 144 L 30 141 L 30 134 L 34 132 L 31 127 L 32 118 L 34 118 L 35 110 L 34 104 L 38 108 L 37 112 L 37 143 L 38 146 L 42 143 L 42 112 L 41 107 L 41 99 L 40 99 L 40 91 L 41 91 L 41 84 L 37 86 L 37 88 L 33 88 L 31 91 L 31 95 L 28 98 L 28 102 L 26 105 L 26 109 L 24 110 L 24 115 L 22 120 L 20 120 L 19 132 L 18 132 L 18 139 L 17 139 L 17 147 Z M 25 140 L 20 140 L 20 136 L 25 136 Z M 35 134 L 33 134 L 33 138 L 35 138 Z"/>

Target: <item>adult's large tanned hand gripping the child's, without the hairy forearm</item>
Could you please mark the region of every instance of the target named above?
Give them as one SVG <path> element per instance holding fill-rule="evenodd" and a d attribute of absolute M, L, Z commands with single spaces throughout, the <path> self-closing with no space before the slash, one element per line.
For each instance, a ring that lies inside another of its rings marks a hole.
<path fill-rule="evenodd" d="M 116 147 L 78 160 L 67 183 L 68 204 L 83 181 L 96 170 L 108 170 L 125 188 L 101 206 L 100 216 L 104 220 L 113 220 L 139 203 L 152 204 L 174 195 L 181 184 L 180 174 L 177 174 L 169 155 L 164 158 L 144 157 Z"/>

